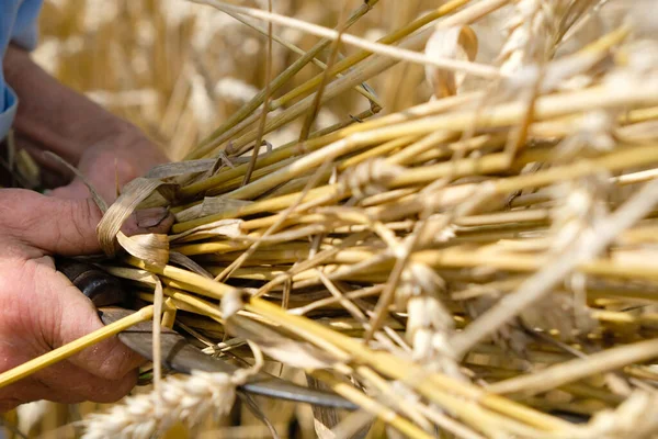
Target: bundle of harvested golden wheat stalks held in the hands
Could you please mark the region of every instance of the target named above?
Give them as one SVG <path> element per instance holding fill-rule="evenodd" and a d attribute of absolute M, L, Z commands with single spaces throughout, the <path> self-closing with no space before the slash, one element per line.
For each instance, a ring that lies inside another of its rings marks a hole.
<path fill-rule="evenodd" d="M 125 250 L 105 270 L 145 306 L 163 294 L 208 353 L 253 363 L 248 339 L 370 415 L 316 416 L 322 437 L 373 419 L 371 435 L 658 437 L 658 2 L 452 0 L 377 43 L 350 29 L 386 2 L 345 1 L 336 30 L 195 2 L 287 49 L 322 40 L 262 92 L 216 85 L 243 106 L 124 188 L 99 226 Z M 478 56 L 483 22 L 504 33 L 497 56 Z M 367 81 L 400 61 L 433 95 L 388 111 Z M 347 93 L 367 108 L 318 121 Z M 154 205 L 169 236 L 118 232 Z M 193 425 L 241 379 L 169 380 L 87 436 Z"/>

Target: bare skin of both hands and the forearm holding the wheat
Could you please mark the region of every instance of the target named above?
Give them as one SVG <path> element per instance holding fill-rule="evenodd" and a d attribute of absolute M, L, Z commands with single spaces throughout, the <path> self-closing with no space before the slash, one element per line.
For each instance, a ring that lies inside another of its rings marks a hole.
<path fill-rule="evenodd" d="M 42 154 L 56 153 L 111 202 L 117 179 L 123 185 L 167 161 L 138 128 L 57 82 L 24 50 L 10 46 L 3 68 L 20 100 L 18 146 L 43 166 L 60 169 Z M 49 257 L 100 252 L 101 213 L 79 180 L 53 195 L 0 189 L 0 372 L 102 327 L 91 301 L 55 271 Z M 124 233 L 166 233 L 171 217 L 148 229 L 135 218 L 132 224 Z M 116 338 L 105 340 L 0 389 L 0 413 L 42 398 L 114 402 L 135 385 L 143 361 Z"/>

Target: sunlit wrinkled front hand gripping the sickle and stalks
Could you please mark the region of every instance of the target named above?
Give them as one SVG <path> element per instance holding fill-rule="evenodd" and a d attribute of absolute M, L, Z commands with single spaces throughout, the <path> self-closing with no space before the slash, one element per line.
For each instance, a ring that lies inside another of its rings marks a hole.
<path fill-rule="evenodd" d="M 91 200 L 0 189 L 0 372 L 102 327 L 89 299 L 49 255 L 99 252 L 101 212 Z M 126 234 L 164 232 L 126 226 Z M 143 359 L 116 338 L 0 389 L 0 412 L 36 399 L 113 402 L 135 384 Z"/>

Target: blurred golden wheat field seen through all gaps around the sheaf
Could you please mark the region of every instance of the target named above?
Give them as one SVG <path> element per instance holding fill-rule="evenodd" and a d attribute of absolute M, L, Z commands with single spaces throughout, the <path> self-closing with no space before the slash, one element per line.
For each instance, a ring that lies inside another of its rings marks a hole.
<path fill-rule="evenodd" d="M 277 13 L 326 27 L 334 27 L 341 22 L 343 18 L 341 11 L 350 11 L 363 4 L 363 0 L 271 1 Z M 235 1 L 235 3 L 268 7 L 266 1 L 257 0 Z M 376 41 L 443 3 L 445 1 L 442 0 L 379 0 L 372 11 L 350 29 L 349 33 Z M 514 8 L 520 3 L 521 1 L 513 2 Z M 605 3 L 605 1 L 601 2 L 601 4 Z M 624 5 L 623 0 L 610 3 Z M 476 58 L 478 63 L 500 66 L 498 57 L 501 47 L 510 37 L 506 31 L 510 16 L 506 14 L 510 14 L 511 9 L 503 8 L 492 12 L 473 25 L 479 46 Z M 597 15 L 597 20 L 583 20 L 587 25 L 574 31 L 570 40 L 559 47 L 556 45 L 557 48 L 552 56 L 559 59 L 559 55 L 577 53 L 575 48 L 585 47 L 593 40 L 609 35 L 619 25 L 617 15 L 614 7 L 611 7 L 605 9 L 601 16 Z M 249 21 L 248 24 L 266 29 L 265 24 L 257 21 Z M 287 44 L 295 45 L 299 50 L 308 50 L 319 40 L 300 31 L 277 25 L 273 26 L 273 35 Z M 249 25 L 212 8 L 185 0 L 46 0 L 41 15 L 41 43 L 33 56 L 61 82 L 141 127 L 162 146 L 172 161 L 178 161 L 185 158 L 200 142 L 236 113 L 242 104 L 250 101 L 268 83 L 270 77 L 283 71 L 299 56 L 290 48 L 274 43 L 272 71 L 268 74 L 266 47 L 268 38 Z M 339 56 L 354 53 L 356 53 L 354 47 L 343 45 Z M 328 53 L 321 53 L 319 58 L 326 60 L 328 56 Z M 613 63 L 610 59 L 608 61 L 606 66 L 611 67 Z M 320 72 L 318 67 L 309 64 L 293 80 L 286 82 L 285 87 L 277 90 L 273 99 L 276 100 Z M 597 75 L 598 71 L 593 72 L 592 77 L 595 78 Z M 460 88 L 460 92 L 477 90 L 483 85 L 481 81 L 484 80 L 468 77 Z M 577 82 L 575 86 L 566 83 L 565 87 L 578 89 L 587 88 L 589 82 Z M 381 103 L 379 114 L 392 114 L 428 102 L 433 93 L 426 80 L 426 69 L 408 63 L 400 63 L 375 76 L 368 80 L 367 86 L 374 90 Z M 499 98 L 511 100 L 514 97 L 509 93 Z M 295 102 L 292 100 L 275 112 Z M 494 101 L 490 103 L 496 104 Z M 368 100 L 356 91 L 349 90 L 320 109 L 313 130 L 321 130 L 349 120 L 350 115 L 356 115 L 368 108 L 371 108 Z M 296 139 L 303 125 L 304 116 L 268 133 L 264 139 L 276 148 L 291 139 Z M 513 122 L 508 125 L 514 126 Z M 503 128 L 511 130 L 508 125 Z M 577 128 L 569 124 L 565 126 L 567 134 L 558 135 L 559 138 L 560 136 L 570 138 L 570 135 L 577 137 L 579 134 Z M 452 128 L 451 125 L 450 130 Z M 553 128 L 555 127 L 548 125 L 549 131 Z M 503 133 L 507 133 L 504 130 Z M 541 137 L 542 131 L 540 130 L 538 133 Z M 651 133 L 650 135 L 654 136 L 655 134 Z M 463 134 L 468 134 L 468 130 Z M 230 143 L 230 139 L 228 142 Z M 553 147 L 553 144 L 551 145 Z M 491 149 L 491 151 L 497 150 Z M 458 156 L 456 151 L 457 149 L 455 149 L 455 157 Z M 450 154 L 452 155 L 452 151 Z M 480 153 L 473 154 L 475 157 Z M 487 157 L 488 150 L 483 154 L 485 158 L 490 158 Z M 439 157 L 440 164 L 444 158 Z M 506 170 L 509 173 L 519 172 L 517 168 Z M 474 176 L 467 177 L 473 177 L 473 181 L 479 182 L 481 176 L 477 172 L 473 173 Z M 430 177 L 434 178 L 433 175 Z M 589 188 L 586 183 L 588 182 L 585 181 L 582 185 Z M 620 196 L 624 193 L 622 189 L 614 192 Z M 566 199 L 566 192 L 560 194 Z M 548 237 L 553 237 L 551 235 L 553 232 L 553 229 L 541 229 L 541 233 L 547 234 Z M 498 239 L 486 238 L 484 241 Z M 614 306 L 614 303 L 611 306 Z M 507 351 L 503 353 L 508 354 Z M 305 382 L 303 374 L 282 368 L 280 363 L 269 363 L 268 371 L 299 383 Z M 136 392 L 146 391 L 148 386 L 136 390 Z M 318 436 L 318 431 L 321 434 L 321 424 L 316 424 L 316 419 L 319 419 L 321 414 L 317 412 L 314 414 L 310 407 L 266 399 L 259 399 L 259 402 L 262 403 L 264 415 L 273 423 L 281 437 L 313 438 Z M 75 437 L 80 432 L 79 421 L 82 418 L 89 413 L 106 408 L 107 406 L 91 403 L 66 406 L 41 402 L 20 407 L 18 413 L 11 415 L 14 418 L 10 420 L 18 425 L 20 431 L 30 437 Z M 12 439 L 21 437 L 11 431 L 7 435 Z M 373 428 L 367 437 L 376 438 L 383 435 L 385 435 L 383 430 Z M 394 437 L 395 434 L 389 435 Z M 362 436 L 366 437 L 365 434 Z M 270 437 L 270 432 L 247 409 L 234 409 L 228 416 L 205 419 L 192 432 L 180 425 L 175 426 L 167 437 L 258 438 Z"/>

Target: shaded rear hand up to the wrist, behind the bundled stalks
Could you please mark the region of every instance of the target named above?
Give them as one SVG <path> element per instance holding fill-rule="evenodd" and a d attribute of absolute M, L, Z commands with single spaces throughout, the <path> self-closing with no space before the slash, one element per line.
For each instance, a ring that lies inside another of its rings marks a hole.
<path fill-rule="evenodd" d="M 110 136 L 89 147 L 80 158 L 78 170 L 107 203 L 116 199 L 117 184 L 145 176 L 154 166 L 167 162 L 162 151 L 141 133 L 127 131 Z M 53 195 L 82 200 L 90 196 L 80 179 L 57 188 Z"/>

